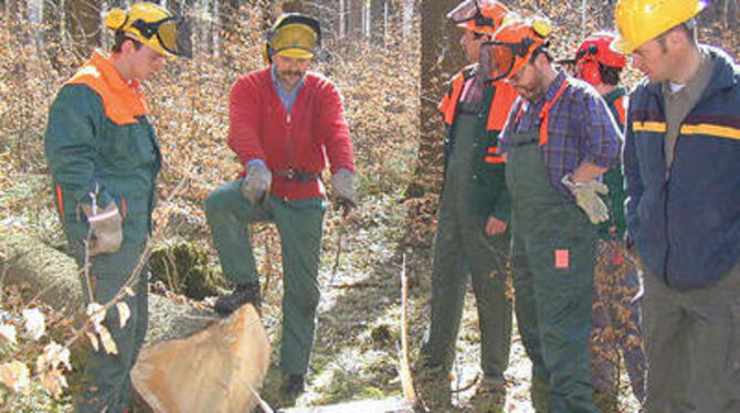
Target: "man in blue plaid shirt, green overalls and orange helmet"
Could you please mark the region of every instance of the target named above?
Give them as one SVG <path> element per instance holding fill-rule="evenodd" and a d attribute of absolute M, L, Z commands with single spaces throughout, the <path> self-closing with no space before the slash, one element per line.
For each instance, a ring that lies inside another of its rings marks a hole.
<path fill-rule="evenodd" d="M 557 71 L 549 21 L 505 24 L 489 43 L 491 77 L 519 92 L 501 131 L 511 195 L 511 267 L 537 412 L 598 412 L 589 370 L 594 224 L 609 218 L 596 181 L 620 131 L 596 91 Z"/>

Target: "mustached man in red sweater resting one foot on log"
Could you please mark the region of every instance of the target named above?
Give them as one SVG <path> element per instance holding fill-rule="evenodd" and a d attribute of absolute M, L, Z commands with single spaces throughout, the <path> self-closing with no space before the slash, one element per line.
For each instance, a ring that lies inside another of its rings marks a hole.
<path fill-rule="evenodd" d="M 319 22 L 281 15 L 267 35 L 268 67 L 250 72 L 232 86 L 229 147 L 246 173 L 213 191 L 205 215 L 233 294 L 215 310 L 230 314 L 260 307 L 260 283 L 250 222 L 273 221 L 283 243 L 283 404 L 304 390 L 316 328 L 321 225 L 326 210 L 320 172 L 328 157 L 335 201 L 345 212 L 357 203 L 355 158 L 341 97 L 326 77 L 307 72 L 320 44 Z"/>

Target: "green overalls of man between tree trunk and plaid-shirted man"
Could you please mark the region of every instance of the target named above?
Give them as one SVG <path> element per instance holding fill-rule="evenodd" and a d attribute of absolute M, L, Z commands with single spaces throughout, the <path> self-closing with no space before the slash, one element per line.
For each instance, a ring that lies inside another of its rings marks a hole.
<path fill-rule="evenodd" d="M 467 285 L 478 307 L 480 367 L 504 385 L 511 341 L 511 301 L 506 297 L 508 233 L 485 233 L 487 216 L 472 211 L 473 145 L 477 117 L 458 114 L 455 147 L 445 171 L 432 262 L 432 316 L 421 357 L 448 371 L 455 357 Z"/>

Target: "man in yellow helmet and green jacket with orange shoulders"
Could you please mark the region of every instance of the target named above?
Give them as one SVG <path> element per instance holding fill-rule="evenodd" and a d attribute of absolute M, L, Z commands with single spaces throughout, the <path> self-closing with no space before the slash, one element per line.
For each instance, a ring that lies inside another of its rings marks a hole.
<path fill-rule="evenodd" d="M 81 267 L 85 300 L 107 304 L 125 285 L 130 318 L 121 327 L 116 307 L 103 325 L 117 353 L 92 351 L 78 412 L 129 407 L 129 371 L 147 330 L 147 274 L 137 273 L 151 229 L 156 178 L 161 165 L 139 81 L 162 70 L 167 56 L 184 54 L 180 20 L 152 3 L 114 9 L 113 52 L 93 53 L 56 95 L 44 136 L 54 197 Z"/>

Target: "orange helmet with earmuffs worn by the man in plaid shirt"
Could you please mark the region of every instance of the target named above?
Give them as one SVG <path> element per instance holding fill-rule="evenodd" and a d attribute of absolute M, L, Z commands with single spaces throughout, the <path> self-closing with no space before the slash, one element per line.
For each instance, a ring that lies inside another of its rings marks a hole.
<path fill-rule="evenodd" d="M 485 42 L 490 55 L 490 82 L 511 78 L 524 67 L 540 47 L 547 47 L 552 32 L 550 21 L 545 18 L 505 23 Z"/>

